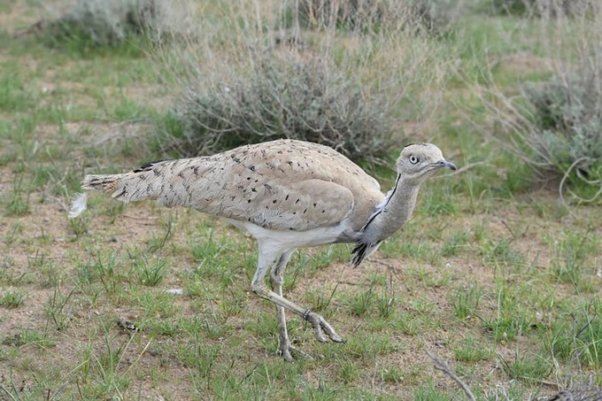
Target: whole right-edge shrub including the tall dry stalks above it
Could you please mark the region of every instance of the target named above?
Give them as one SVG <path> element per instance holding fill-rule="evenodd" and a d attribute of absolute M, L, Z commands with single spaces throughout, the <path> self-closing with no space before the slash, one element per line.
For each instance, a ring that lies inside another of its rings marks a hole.
<path fill-rule="evenodd" d="M 500 88 L 492 76 L 475 86 L 495 121 L 487 133 L 554 182 L 560 197 L 596 202 L 602 194 L 602 12 L 539 19 L 531 31 L 544 52 L 538 82 Z M 545 77 L 545 79 L 544 79 Z"/>

